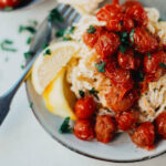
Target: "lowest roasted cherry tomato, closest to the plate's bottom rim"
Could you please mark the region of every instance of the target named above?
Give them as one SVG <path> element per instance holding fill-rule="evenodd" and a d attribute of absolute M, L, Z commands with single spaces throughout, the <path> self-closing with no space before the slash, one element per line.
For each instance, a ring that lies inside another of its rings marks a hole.
<path fill-rule="evenodd" d="M 155 141 L 154 125 L 151 122 L 141 124 L 132 135 L 132 141 L 139 147 L 153 149 Z"/>

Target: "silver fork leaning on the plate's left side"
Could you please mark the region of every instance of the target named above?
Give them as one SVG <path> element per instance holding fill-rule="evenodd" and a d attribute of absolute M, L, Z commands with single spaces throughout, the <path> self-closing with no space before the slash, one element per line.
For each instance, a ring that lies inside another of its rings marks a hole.
<path fill-rule="evenodd" d="M 50 22 L 48 21 L 48 18 L 41 23 L 39 31 L 33 38 L 33 41 L 30 46 L 30 52 L 32 53 L 32 58 L 28 60 L 27 66 L 20 76 L 20 79 L 17 81 L 9 91 L 7 91 L 3 95 L 0 96 L 0 125 L 4 121 L 6 116 L 9 113 L 10 105 L 12 102 L 12 98 L 21 84 L 27 80 L 27 77 L 30 74 L 31 68 L 38 58 L 39 53 L 43 49 L 44 44 L 49 44 L 52 40 L 52 34 L 54 31 L 60 29 L 66 29 L 68 27 L 72 25 L 73 22 L 79 21 L 80 14 L 70 6 L 66 4 L 59 4 L 56 10 L 63 18 L 63 22 L 56 21 L 56 22 Z"/>

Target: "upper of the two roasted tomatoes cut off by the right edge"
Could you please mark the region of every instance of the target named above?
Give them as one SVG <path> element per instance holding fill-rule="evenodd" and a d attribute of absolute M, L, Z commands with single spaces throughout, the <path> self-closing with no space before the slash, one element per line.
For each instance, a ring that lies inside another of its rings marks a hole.
<path fill-rule="evenodd" d="M 144 71 L 148 74 L 149 80 L 157 80 L 160 77 L 165 68 L 159 66 L 159 64 L 166 64 L 166 53 L 159 51 L 156 53 L 148 53 L 144 56 Z"/>

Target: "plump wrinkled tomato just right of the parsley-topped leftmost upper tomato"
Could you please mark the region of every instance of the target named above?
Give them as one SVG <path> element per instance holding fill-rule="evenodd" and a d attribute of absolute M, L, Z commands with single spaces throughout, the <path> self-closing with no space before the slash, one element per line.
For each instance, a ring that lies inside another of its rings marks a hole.
<path fill-rule="evenodd" d="M 120 46 L 120 37 L 113 32 L 106 32 L 101 35 L 95 44 L 96 52 L 101 55 L 101 59 L 107 59 L 112 56 Z"/>

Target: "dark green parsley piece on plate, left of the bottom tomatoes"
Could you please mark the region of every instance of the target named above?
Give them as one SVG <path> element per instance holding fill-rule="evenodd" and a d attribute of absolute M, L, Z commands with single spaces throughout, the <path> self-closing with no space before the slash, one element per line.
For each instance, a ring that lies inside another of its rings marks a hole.
<path fill-rule="evenodd" d="M 65 117 L 62 125 L 60 126 L 60 133 L 72 133 L 73 128 L 70 126 L 70 117 Z"/>

